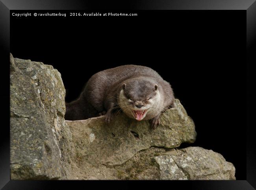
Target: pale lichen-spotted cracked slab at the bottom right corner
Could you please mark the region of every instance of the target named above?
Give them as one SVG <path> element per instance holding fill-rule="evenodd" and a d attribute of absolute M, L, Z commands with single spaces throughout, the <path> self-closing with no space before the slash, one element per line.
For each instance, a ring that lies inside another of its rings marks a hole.
<path fill-rule="evenodd" d="M 200 147 L 173 149 L 154 159 L 160 167 L 160 179 L 236 179 L 232 163 L 226 162 L 221 154 Z"/>

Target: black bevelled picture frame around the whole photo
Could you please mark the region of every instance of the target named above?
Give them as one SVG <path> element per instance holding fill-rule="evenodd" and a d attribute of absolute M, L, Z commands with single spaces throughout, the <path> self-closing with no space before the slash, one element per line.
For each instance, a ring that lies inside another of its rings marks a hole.
<path fill-rule="evenodd" d="M 163 0 L 161 2 L 157 0 L 151 0 L 146 2 L 146 0 L 140 2 L 129 2 L 128 4 L 121 4 L 120 2 L 115 4 L 110 4 L 109 2 L 89 2 L 77 0 L 75 3 L 71 0 L 61 1 L 61 0 L 45 0 L 44 2 L 40 0 L 1 0 L 0 1 L 0 42 L 1 42 L 1 62 L 4 66 L 3 70 L 8 70 L 9 62 L 9 51 L 10 51 L 10 10 L 68 10 L 68 9 L 134 9 L 134 10 L 156 10 L 156 9 L 166 9 L 166 10 L 246 10 L 247 12 L 247 180 L 237 180 L 237 181 L 186 181 L 186 186 L 193 187 L 197 189 L 254 189 L 256 188 L 256 145 L 254 138 L 256 135 L 256 92 L 254 90 L 256 86 L 256 77 L 253 69 L 256 63 L 256 1 L 254 0 L 216 0 L 212 2 L 211 0 L 184 0 L 182 2 L 178 0 L 173 0 L 169 2 L 168 0 Z M 5 68 L 6 67 L 6 68 Z M 9 79 L 9 74 L 6 72 L 0 76 L 3 81 Z M 6 82 L 6 81 L 5 81 Z M 9 109 L 9 83 L 1 84 L 0 98 L 4 101 L 4 108 Z M 8 117 L 8 112 L 2 114 L 4 118 Z M 7 122 L 9 123 L 9 122 Z M 9 128 L 5 127 L 8 133 Z M 10 180 L 10 168 L 9 168 L 9 136 L 6 133 L 0 134 L 0 188 L 3 189 L 35 189 L 38 188 L 59 188 L 60 186 L 68 187 L 68 184 L 72 184 L 70 187 L 74 187 L 74 181 L 18 181 Z M 111 185 L 111 181 L 75 181 L 83 186 L 93 185 L 94 187 L 98 185 Z M 113 181 L 115 184 L 125 184 L 126 188 L 134 188 L 135 184 L 151 186 L 152 188 L 159 188 L 159 185 L 170 185 L 167 181 Z M 160 184 L 161 183 L 161 184 Z M 182 181 L 172 181 L 171 185 L 177 184 L 179 187 L 185 185 Z M 116 186 L 116 185 L 115 185 Z M 124 187 L 124 186 L 123 186 Z"/>

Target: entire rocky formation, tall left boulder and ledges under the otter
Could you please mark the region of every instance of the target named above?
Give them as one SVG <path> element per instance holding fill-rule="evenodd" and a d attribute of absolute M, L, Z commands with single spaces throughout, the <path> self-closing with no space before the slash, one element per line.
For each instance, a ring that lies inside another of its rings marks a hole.
<path fill-rule="evenodd" d="M 65 121 L 60 73 L 10 54 L 11 179 L 236 179 L 222 155 L 193 143 L 193 120 L 179 100 L 152 130 L 124 114 Z"/>

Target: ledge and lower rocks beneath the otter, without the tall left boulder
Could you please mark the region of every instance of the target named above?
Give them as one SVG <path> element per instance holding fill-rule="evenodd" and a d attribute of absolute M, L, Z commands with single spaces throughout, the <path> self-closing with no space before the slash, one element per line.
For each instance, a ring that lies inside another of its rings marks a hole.
<path fill-rule="evenodd" d="M 63 179 L 236 179 L 222 155 L 200 147 L 176 149 L 195 140 L 195 126 L 180 104 L 161 115 L 155 130 L 124 115 L 66 121 L 75 155 Z"/>

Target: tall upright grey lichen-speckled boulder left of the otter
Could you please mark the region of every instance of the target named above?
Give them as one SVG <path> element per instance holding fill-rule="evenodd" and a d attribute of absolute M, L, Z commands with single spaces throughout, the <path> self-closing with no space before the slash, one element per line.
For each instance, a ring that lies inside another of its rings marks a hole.
<path fill-rule="evenodd" d="M 64 98 L 56 69 L 10 54 L 11 179 L 65 175 L 71 133 L 65 125 Z"/>

